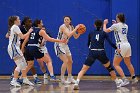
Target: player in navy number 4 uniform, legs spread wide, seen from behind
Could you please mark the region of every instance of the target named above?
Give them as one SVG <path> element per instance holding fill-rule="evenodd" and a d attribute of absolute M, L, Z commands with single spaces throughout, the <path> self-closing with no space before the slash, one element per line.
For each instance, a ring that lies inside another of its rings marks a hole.
<path fill-rule="evenodd" d="M 86 58 L 86 61 L 81 69 L 81 71 L 78 73 L 77 80 L 74 84 L 74 89 L 79 89 L 79 82 L 82 76 L 86 73 L 86 71 L 92 66 L 92 64 L 95 62 L 96 59 L 98 59 L 108 70 L 110 73 L 112 80 L 116 82 L 117 87 L 121 87 L 121 80 L 118 80 L 116 78 L 116 73 L 111 66 L 111 63 L 106 56 L 106 52 L 104 49 L 104 43 L 105 39 L 109 42 L 109 44 L 115 48 L 117 51 L 117 47 L 115 44 L 111 42 L 109 39 L 108 35 L 102 30 L 102 25 L 103 22 L 102 20 L 96 20 L 94 23 L 95 30 L 91 31 L 88 36 L 88 47 L 89 47 L 89 54 L 88 57 Z"/>

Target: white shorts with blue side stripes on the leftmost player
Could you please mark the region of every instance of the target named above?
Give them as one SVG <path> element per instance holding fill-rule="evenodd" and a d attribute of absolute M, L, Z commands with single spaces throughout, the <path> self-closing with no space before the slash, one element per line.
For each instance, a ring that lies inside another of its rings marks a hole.
<path fill-rule="evenodd" d="M 23 56 L 23 53 L 20 50 L 20 47 L 15 46 L 15 45 L 8 45 L 8 54 L 11 59 L 15 59 L 15 58 Z"/>

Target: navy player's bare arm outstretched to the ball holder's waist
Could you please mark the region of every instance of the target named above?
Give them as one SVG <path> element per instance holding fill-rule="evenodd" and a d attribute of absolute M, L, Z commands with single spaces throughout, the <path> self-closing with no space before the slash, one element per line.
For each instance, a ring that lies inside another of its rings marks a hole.
<path fill-rule="evenodd" d="M 50 42 L 62 42 L 62 43 L 66 42 L 66 40 L 59 40 L 59 39 L 51 38 L 50 36 L 47 35 L 47 33 L 44 30 L 40 30 L 39 35 L 42 36 L 45 40 L 50 41 Z"/>

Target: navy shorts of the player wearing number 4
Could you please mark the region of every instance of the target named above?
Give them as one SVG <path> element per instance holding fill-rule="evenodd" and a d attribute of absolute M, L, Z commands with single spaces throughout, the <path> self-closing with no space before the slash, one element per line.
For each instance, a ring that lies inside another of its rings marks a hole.
<path fill-rule="evenodd" d="M 102 64 L 106 64 L 109 62 L 108 57 L 106 56 L 105 50 L 97 51 L 97 50 L 89 50 L 88 57 L 85 61 L 85 65 L 91 66 L 95 60 L 99 60 Z"/>

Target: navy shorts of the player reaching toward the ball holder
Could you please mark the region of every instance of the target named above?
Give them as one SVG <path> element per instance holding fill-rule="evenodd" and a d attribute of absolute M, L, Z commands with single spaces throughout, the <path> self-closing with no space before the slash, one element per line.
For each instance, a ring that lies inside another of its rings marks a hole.
<path fill-rule="evenodd" d="M 26 47 L 26 60 L 32 61 L 35 59 L 40 59 L 44 57 L 44 53 L 39 51 L 39 48 L 36 46 L 27 46 Z"/>

